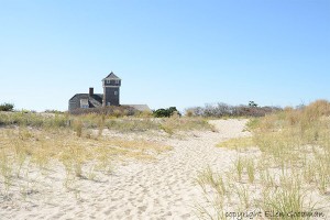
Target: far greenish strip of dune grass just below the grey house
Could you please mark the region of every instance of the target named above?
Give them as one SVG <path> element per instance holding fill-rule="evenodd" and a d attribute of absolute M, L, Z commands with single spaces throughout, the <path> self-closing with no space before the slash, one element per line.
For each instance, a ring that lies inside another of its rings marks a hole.
<path fill-rule="evenodd" d="M 70 116 L 67 113 L 0 112 L 1 125 L 33 127 L 40 129 L 69 128 L 75 130 L 78 136 L 81 135 L 82 130 L 99 129 L 101 132 L 105 128 L 118 132 L 165 131 L 168 134 L 174 134 L 178 131 L 215 130 L 206 119 L 185 118 L 177 114 L 170 118 L 158 119 L 150 117 L 117 118 L 97 113 Z"/>

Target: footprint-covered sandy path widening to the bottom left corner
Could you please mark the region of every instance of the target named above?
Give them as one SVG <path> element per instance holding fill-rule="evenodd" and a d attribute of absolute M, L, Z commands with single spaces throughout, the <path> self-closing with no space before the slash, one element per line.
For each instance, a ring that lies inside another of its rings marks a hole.
<path fill-rule="evenodd" d="M 197 219 L 194 206 L 202 195 L 194 178 L 208 165 L 227 170 L 237 156 L 215 144 L 250 135 L 243 132 L 246 120 L 210 123 L 218 132 L 163 139 L 162 143 L 173 146 L 173 151 L 158 155 L 156 161 L 120 165 L 97 182 L 81 179 L 76 195 L 63 189 L 57 180 L 61 172 L 54 172 L 53 180 L 45 183 L 38 194 L 32 191 L 25 202 L 0 205 L 0 219 Z"/>

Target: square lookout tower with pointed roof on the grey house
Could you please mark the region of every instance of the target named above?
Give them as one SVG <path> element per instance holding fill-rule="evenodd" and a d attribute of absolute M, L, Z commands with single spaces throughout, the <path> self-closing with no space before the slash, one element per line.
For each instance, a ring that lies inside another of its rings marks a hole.
<path fill-rule="evenodd" d="M 103 85 L 103 102 L 102 106 L 119 106 L 119 90 L 121 79 L 112 72 L 102 79 Z"/>

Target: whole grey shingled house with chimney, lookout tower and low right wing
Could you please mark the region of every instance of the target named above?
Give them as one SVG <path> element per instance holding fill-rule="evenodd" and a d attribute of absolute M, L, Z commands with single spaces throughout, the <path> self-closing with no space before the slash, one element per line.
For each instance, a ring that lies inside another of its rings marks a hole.
<path fill-rule="evenodd" d="M 68 101 L 69 112 L 75 109 L 99 108 L 106 106 L 120 105 L 121 79 L 112 72 L 102 79 L 103 94 L 94 94 L 94 88 L 89 88 L 88 94 L 76 94 Z M 150 111 L 146 105 L 123 105 L 136 110 Z"/>

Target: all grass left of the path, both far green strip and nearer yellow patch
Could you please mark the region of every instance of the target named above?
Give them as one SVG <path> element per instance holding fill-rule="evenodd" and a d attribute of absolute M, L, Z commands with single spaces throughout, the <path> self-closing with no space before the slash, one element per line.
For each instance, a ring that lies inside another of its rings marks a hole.
<path fill-rule="evenodd" d="M 155 141 L 105 135 L 105 130 L 128 136 L 130 132 L 166 136 L 179 131 L 212 129 L 200 118 L 142 116 L 0 112 L 0 200 L 10 199 L 18 187 L 23 190 L 22 197 L 26 197 L 42 185 L 32 178 L 41 175 L 50 182 L 61 169 L 65 173 L 64 188 L 76 193 L 78 180 L 108 175 L 119 161 L 154 160 L 170 150 Z"/>

